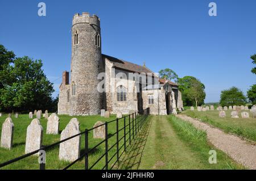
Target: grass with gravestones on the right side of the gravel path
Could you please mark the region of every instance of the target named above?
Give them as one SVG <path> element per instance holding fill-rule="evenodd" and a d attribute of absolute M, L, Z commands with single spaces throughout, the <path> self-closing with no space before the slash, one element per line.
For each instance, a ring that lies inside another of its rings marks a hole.
<path fill-rule="evenodd" d="M 256 141 L 256 119 L 251 118 L 250 111 L 241 110 L 238 112 L 240 118 L 234 119 L 231 117 L 230 113 L 232 110 L 225 111 L 226 117 L 218 117 L 218 111 L 206 111 L 199 112 L 197 110 L 190 111 L 186 110 L 183 114 L 197 118 L 202 122 L 213 125 L 214 127 L 220 128 L 227 133 L 233 133 L 237 136 L 247 138 L 252 141 Z M 250 118 L 241 118 L 241 112 L 249 112 Z"/>

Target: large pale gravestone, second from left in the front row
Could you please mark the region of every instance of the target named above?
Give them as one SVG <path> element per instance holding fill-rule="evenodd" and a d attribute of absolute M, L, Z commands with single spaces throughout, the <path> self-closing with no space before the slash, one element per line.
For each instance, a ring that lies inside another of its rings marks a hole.
<path fill-rule="evenodd" d="M 38 119 L 33 119 L 27 127 L 25 153 L 40 149 L 43 141 L 43 127 Z"/>

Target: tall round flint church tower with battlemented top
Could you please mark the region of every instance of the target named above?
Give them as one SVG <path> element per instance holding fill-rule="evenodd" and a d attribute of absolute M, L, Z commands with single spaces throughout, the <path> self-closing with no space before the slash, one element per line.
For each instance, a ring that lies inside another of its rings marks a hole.
<path fill-rule="evenodd" d="M 69 115 L 96 115 L 101 109 L 97 91 L 101 61 L 100 18 L 87 12 L 72 22 L 71 90 Z"/>

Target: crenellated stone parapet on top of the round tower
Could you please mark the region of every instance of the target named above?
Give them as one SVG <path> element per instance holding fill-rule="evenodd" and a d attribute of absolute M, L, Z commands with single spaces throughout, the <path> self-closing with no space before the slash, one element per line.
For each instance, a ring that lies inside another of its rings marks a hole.
<path fill-rule="evenodd" d="M 100 27 L 100 18 L 97 15 L 90 16 L 89 12 L 82 12 L 81 15 L 77 13 L 73 16 L 72 25 L 77 23 L 89 23 Z"/>

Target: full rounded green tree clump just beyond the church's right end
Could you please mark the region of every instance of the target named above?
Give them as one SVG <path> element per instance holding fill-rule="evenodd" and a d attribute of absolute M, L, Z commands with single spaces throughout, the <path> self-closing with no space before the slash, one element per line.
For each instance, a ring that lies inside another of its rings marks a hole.
<path fill-rule="evenodd" d="M 197 106 L 204 104 L 205 86 L 192 76 L 178 78 L 179 90 L 182 93 L 184 106 Z"/>

